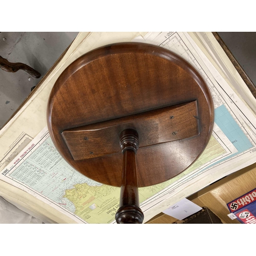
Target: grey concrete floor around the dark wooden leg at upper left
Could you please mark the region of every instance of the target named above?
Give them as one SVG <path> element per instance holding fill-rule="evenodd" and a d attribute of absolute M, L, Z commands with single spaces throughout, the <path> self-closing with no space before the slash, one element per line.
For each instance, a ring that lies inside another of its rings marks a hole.
<path fill-rule="evenodd" d="M 22 62 L 41 74 L 31 77 L 23 70 L 0 69 L 0 129 L 44 77 L 78 32 L 0 32 L 0 56 Z"/>

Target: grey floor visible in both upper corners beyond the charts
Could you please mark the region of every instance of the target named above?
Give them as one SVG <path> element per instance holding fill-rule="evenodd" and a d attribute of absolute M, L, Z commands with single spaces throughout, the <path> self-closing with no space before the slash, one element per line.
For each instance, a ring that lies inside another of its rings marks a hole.
<path fill-rule="evenodd" d="M 26 99 L 78 32 L 0 32 L 0 55 L 10 62 L 23 62 L 41 73 L 36 79 L 23 70 L 0 69 L 0 129 Z M 256 84 L 256 32 L 219 32 L 234 57 Z"/>

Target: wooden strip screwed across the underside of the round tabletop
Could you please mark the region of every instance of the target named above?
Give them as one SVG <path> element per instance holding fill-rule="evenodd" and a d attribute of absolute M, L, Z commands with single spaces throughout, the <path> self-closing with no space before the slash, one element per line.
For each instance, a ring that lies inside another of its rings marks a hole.
<path fill-rule="evenodd" d="M 74 160 L 120 152 L 119 135 L 125 129 L 139 134 L 140 147 L 199 135 L 197 101 L 63 131 Z"/>

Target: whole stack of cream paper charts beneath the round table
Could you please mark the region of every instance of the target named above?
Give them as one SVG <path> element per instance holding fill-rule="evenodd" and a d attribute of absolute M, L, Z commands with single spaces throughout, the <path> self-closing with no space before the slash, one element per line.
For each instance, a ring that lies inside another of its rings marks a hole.
<path fill-rule="evenodd" d="M 0 131 L 1 196 L 48 222 L 115 223 L 120 188 L 84 177 L 60 157 L 46 127 L 46 108 L 54 82 L 72 61 L 99 46 L 132 40 L 189 61 L 205 79 L 215 105 L 214 132 L 200 158 L 177 177 L 139 189 L 144 222 L 256 161 L 256 101 L 211 33 L 79 33 L 31 100 Z"/>

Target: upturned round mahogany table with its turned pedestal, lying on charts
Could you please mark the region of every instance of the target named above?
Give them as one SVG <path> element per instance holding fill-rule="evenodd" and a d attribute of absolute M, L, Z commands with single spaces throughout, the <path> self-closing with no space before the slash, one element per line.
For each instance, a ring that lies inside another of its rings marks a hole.
<path fill-rule="evenodd" d="M 56 81 L 47 112 L 62 157 L 83 175 L 121 187 L 117 223 L 142 223 L 138 187 L 183 172 L 214 124 L 200 74 L 176 54 L 141 43 L 75 60 Z"/>

